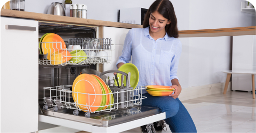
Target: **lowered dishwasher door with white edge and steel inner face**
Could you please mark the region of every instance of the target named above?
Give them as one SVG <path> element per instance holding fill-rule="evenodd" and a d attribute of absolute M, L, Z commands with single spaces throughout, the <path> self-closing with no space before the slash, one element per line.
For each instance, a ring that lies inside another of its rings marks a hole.
<path fill-rule="evenodd" d="M 160 113 L 158 108 L 136 106 L 121 111 L 91 113 L 90 118 L 82 113 L 75 116 L 68 110 L 54 112 L 48 109 L 42 113 L 38 115 L 39 122 L 91 133 L 119 133 L 165 119 L 165 112 Z"/>

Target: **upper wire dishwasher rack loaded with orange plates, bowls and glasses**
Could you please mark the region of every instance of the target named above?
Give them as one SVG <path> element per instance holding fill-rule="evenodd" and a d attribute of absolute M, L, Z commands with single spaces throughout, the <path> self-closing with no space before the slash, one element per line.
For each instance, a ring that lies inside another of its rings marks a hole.
<path fill-rule="evenodd" d="M 97 39 L 99 46 L 85 47 L 86 41 Z M 70 47 L 73 46 L 73 47 Z M 115 45 L 111 38 L 72 38 L 64 42 L 39 42 L 39 65 L 85 65 L 110 63 Z"/>

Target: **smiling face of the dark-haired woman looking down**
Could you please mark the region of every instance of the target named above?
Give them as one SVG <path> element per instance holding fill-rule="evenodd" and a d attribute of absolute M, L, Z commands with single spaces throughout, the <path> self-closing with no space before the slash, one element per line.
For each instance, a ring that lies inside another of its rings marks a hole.
<path fill-rule="evenodd" d="M 149 25 L 150 30 L 152 32 L 159 32 L 163 29 L 165 30 L 165 26 L 170 24 L 171 20 L 168 21 L 167 18 L 164 18 L 158 11 L 152 12 L 149 17 Z"/>

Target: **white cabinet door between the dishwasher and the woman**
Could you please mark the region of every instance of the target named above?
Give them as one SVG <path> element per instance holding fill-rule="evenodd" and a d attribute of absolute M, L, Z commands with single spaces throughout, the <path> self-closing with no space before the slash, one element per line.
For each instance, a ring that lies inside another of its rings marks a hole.
<path fill-rule="evenodd" d="M 115 28 L 115 27 L 103 27 L 103 38 L 111 38 L 112 44 L 115 44 L 115 51 L 112 51 L 111 63 L 104 64 L 103 71 L 107 70 L 117 70 L 116 62 L 122 54 L 124 40 L 126 34 L 130 29 L 126 28 Z M 130 61 L 131 63 L 132 61 Z M 106 74 L 110 76 L 110 79 L 113 79 L 114 75 L 112 73 Z"/>

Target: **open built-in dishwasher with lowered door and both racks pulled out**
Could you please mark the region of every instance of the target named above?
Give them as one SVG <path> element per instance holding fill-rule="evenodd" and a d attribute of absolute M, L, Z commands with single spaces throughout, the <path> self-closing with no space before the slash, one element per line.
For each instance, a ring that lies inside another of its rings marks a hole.
<path fill-rule="evenodd" d="M 61 50 L 70 50 L 68 49 L 69 45 L 80 45 L 83 51 L 93 51 L 94 49 L 85 49 L 82 45 L 86 39 L 96 38 L 96 31 L 96 27 L 39 22 L 39 37 L 45 33 L 59 35 L 67 45 Z M 39 55 L 38 121 L 87 132 L 112 133 L 127 131 L 165 119 L 165 113 L 160 113 L 158 108 L 141 106 L 142 99 L 146 98 L 141 94 L 145 87 L 138 86 L 133 89 L 129 86 L 129 73 L 117 70 L 106 70 L 100 74 L 100 77 L 102 78 L 104 74 L 109 72 L 118 72 L 127 77 L 125 80 L 128 84 L 119 87 L 115 86 L 114 80 L 110 84 L 107 83 L 111 91 L 108 94 L 101 94 L 101 96 L 113 98 L 110 98 L 109 104 L 98 106 L 104 107 L 103 110 L 92 111 L 91 108 L 95 106 L 80 104 L 73 99 L 74 97 L 78 99 L 81 96 L 81 93 L 72 91 L 72 84 L 76 77 L 81 74 L 82 69 L 97 69 L 98 64 L 112 63 L 111 56 L 115 50 L 115 45 L 111 43 L 111 38 L 97 39 L 100 40 L 98 51 L 106 51 L 108 53 L 107 59 L 87 54 L 82 62 L 65 62 L 55 65 L 52 64 L 54 59 L 47 60 L 47 55 Z M 62 42 L 39 43 L 60 44 L 62 46 Z M 40 49 L 43 48 L 39 48 L 39 51 Z M 90 97 L 97 96 L 97 94 L 88 93 L 82 93 L 82 95 L 86 95 L 88 101 Z M 81 108 L 81 106 L 85 108 Z"/>

